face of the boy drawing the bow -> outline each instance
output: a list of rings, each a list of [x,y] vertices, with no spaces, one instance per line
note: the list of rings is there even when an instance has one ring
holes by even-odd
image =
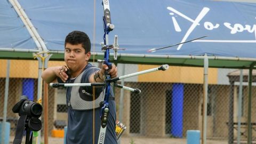
[[[65,47],[65,62],[71,72],[75,73],[83,69],[91,56],[91,52],[85,53],[82,44],[72,45],[67,43]]]

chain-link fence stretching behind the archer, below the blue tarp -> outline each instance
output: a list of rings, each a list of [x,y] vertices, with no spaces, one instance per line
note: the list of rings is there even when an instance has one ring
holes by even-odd
[[[0,67],[0,103],[2,103],[0,117],[2,121],[7,60],[0,61],[3,63]],[[98,63],[94,64],[98,66]],[[49,62],[49,66],[57,65],[63,65],[63,62]],[[119,76],[158,67],[121,63],[117,66]],[[247,139],[248,84],[242,83],[242,95],[239,94],[239,81],[233,81],[231,77],[227,76],[235,70],[209,69],[207,139],[223,142],[227,142],[229,138],[233,138],[234,141],[237,140],[237,137],[242,141]],[[239,74],[236,76],[239,77]],[[36,60],[11,60],[7,122],[11,123],[10,135],[12,137],[19,119],[18,114],[12,112],[12,107],[20,100],[21,95],[27,95],[30,100],[37,101],[37,77],[38,62]],[[234,89],[231,89],[232,81]],[[170,67],[167,71],[127,78],[122,83],[125,86],[141,90],[141,94],[138,95],[115,88],[117,119],[127,126],[123,137],[143,136],[175,139],[186,138],[187,130],[202,131],[203,68]],[[253,85],[251,107],[253,140],[256,139],[255,91],[256,86]],[[63,128],[67,125],[66,89],[49,87],[48,106],[49,136],[63,137]],[[241,117],[238,117],[238,114],[241,114]],[[232,118],[233,125],[229,124],[230,118]],[[240,130],[238,122],[241,122]],[[233,133],[229,132],[230,129],[233,130]],[[43,135],[43,129],[41,132]]]

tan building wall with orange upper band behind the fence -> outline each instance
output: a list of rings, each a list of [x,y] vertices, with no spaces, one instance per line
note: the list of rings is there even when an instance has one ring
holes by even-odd
[[[0,77],[6,76],[6,60],[0,60],[1,69]],[[64,65],[63,62],[49,62],[49,66]],[[126,65],[125,69],[128,72],[137,72],[158,66],[131,65],[132,68]],[[121,68],[119,65],[118,68]],[[220,69],[209,69],[209,93],[212,114],[207,116],[207,137],[228,137],[228,114],[229,114],[229,93],[230,87],[227,85],[227,79],[220,77]],[[223,70],[222,70],[223,71]],[[225,71],[225,70],[224,70]],[[229,72],[229,70],[228,70]],[[228,73],[227,70],[225,73]],[[119,73],[122,74],[122,73]],[[23,78],[37,78],[38,62],[26,60],[12,60],[9,86],[9,100],[7,115],[9,117],[17,117],[13,114],[11,108],[19,101],[22,93]],[[222,74],[223,75],[223,74]],[[225,77],[225,76],[224,76]],[[223,81],[220,81],[220,80]],[[0,85],[4,87],[5,78],[0,78]],[[156,137],[165,137],[165,118],[166,118],[166,91],[172,89],[173,83],[184,84],[184,101],[183,101],[183,137],[186,136],[187,130],[202,130],[202,99],[203,99],[203,68],[191,67],[170,67],[167,71],[157,71],[150,74],[140,75],[129,79],[125,82],[126,86],[141,89],[140,97],[140,115],[138,123],[140,123],[140,134]],[[222,85],[217,85],[221,83]],[[256,122],[256,88],[253,87],[252,96],[252,122]],[[34,98],[37,99],[37,81],[35,81]],[[57,113],[57,105],[60,100],[63,100],[65,90],[49,88],[49,132],[54,129],[53,122],[55,120],[67,119],[66,113]],[[117,103],[117,119],[119,117],[119,97],[120,90],[116,88],[116,103]],[[0,102],[3,103],[4,89],[0,90]],[[244,101],[243,101],[243,117],[242,122],[247,120],[247,86],[244,86]],[[129,135],[131,127],[131,99],[132,94],[129,91],[124,91],[123,116],[122,122],[127,126],[125,134]],[[65,97],[66,99],[66,97]],[[237,108],[237,92],[234,93],[234,108]],[[62,101],[63,103],[63,101]],[[234,109],[234,121],[237,121],[237,110]],[[3,106],[0,107],[0,116],[3,115]],[[43,119],[43,117],[42,117]],[[236,134],[236,131],[234,131]],[[255,132],[253,133],[256,134]]]

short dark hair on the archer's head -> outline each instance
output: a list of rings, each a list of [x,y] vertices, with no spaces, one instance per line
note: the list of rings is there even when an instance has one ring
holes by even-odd
[[[85,53],[91,51],[90,38],[83,31],[74,30],[71,33],[69,33],[65,39],[65,47],[67,43],[72,45],[82,44]]]

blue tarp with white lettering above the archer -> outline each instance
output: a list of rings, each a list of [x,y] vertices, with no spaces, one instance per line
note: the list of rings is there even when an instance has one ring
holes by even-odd
[[[103,6],[96,1],[95,52],[102,42]],[[93,1],[20,0],[49,50],[63,51],[65,36],[72,30],[85,31],[93,43]],[[169,55],[217,55],[256,58],[256,4],[189,0],[110,0],[114,31],[122,53]],[[0,47],[37,49],[11,4],[0,1]],[[155,53],[147,50],[209,35]],[[93,51],[93,50],[92,50]]]

